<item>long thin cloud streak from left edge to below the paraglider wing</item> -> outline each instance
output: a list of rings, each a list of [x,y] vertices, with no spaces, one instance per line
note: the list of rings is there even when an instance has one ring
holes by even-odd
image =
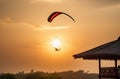
[[[32,27],[34,30],[60,30],[60,29],[67,29],[69,28],[68,26],[51,26],[50,24],[48,25],[39,25],[39,24],[33,24],[33,23],[28,23],[28,22],[21,22],[21,21],[16,21],[13,20],[10,17],[0,17],[0,25],[3,26],[29,26]]]

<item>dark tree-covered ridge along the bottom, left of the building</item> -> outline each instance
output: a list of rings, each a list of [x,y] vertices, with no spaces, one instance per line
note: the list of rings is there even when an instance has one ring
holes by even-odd
[[[1,73],[0,79],[98,79],[98,77],[97,74],[90,74],[83,70],[79,70],[54,73],[40,71],[31,71],[30,73],[19,72],[17,74]]]

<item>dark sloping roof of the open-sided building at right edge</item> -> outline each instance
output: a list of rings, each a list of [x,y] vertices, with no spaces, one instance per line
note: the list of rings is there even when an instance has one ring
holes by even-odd
[[[117,40],[100,45],[88,51],[73,55],[74,58],[83,59],[120,59],[120,37]]]

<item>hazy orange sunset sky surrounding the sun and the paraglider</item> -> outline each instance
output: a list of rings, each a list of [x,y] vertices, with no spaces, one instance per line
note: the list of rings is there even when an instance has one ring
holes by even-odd
[[[64,15],[47,22],[54,11],[66,12],[76,22]],[[0,0],[0,72],[98,72],[98,61],[72,55],[119,36],[120,0]],[[51,45],[55,38],[61,41],[58,52]]]

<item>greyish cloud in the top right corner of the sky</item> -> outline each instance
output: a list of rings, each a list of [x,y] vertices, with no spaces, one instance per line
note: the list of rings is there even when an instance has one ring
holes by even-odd
[[[109,8],[111,6],[120,5],[120,0],[75,0],[74,2],[87,10]]]

